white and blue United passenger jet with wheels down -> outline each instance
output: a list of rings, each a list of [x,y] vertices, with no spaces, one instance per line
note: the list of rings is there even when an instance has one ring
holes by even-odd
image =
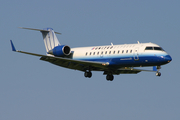
[[[70,48],[62,45],[57,39],[52,28],[28,30],[40,31],[43,36],[46,55],[19,51],[10,40],[12,51],[25,53],[40,57],[40,60],[52,64],[84,72],[86,78],[92,77],[92,71],[102,71],[108,81],[113,81],[114,75],[137,74],[141,71],[159,72],[161,65],[172,61],[172,58],[159,45],[154,43],[103,45],[91,47]],[[136,68],[137,67],[137,68]],[[139,69],[142,67],[153,67],[152,70]]]

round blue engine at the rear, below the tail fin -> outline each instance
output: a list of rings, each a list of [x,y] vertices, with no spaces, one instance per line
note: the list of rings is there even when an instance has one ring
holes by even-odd
[[[54,47],[54,49],[48,52],[48,54],[58,57],[68,56],[70,53],[71,53],[71,48],[67,45],[56,46]]]

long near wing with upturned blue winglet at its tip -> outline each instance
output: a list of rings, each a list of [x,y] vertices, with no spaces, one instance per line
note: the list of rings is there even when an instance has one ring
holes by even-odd
[[[19,51],[15,49],[12,40],[10,42],[11,42],[12,51],[38,56],[38,57],[41,57],[40,60],[47,61],[52,64],[69,68],[69,69],[75,69],[75,70],[80,70],[80,71],[91,69],[94,71],[101,71],[101,70],[106,70],[108,66],[108,63],[105,63],[105,62],[74,60],[71,58],[54,57],[54,56],[41,55],[41,54],[30,53],[30,52],[25,52],[25,51]]]

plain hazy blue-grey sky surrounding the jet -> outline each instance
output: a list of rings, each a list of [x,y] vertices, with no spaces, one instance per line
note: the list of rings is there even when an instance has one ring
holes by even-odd
[[[0,120],[179,120],[179,0],[6,0],[0,4]],[[11,51],[46,54],[38,31],[70,47],[152,42],[172,56],[155,73],[92,78]]]

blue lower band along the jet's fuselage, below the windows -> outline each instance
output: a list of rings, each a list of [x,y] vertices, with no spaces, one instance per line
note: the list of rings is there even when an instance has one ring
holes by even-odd
[[[74,58],[76,60],[85,60],[85,61],[97,61],[97,62],[109,62],[109,65],[116,66],[157,66],[168,63],[166,53],[161,54],[140,54],[134,59],[134,54],[126,55],[109,55],[109,56],[86,56],[83,58]],[[170,58],[169,58],[170,59]]]

